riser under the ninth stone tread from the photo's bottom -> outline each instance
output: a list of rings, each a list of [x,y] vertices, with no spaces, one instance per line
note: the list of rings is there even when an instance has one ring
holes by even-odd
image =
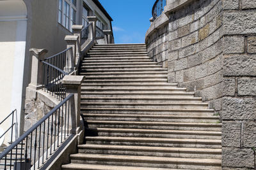
[[[154,106],[154,105],[144,105],[141,106],[140,104],[138,105],[121,105],[121,104],[116,104],[116,105],[110,105],[110,104],[81,104],[81,107],[83,108],[156,108],[156,109],[207,109],[208,106],[179,106],[179,105],[174,105],[174,106]]]

